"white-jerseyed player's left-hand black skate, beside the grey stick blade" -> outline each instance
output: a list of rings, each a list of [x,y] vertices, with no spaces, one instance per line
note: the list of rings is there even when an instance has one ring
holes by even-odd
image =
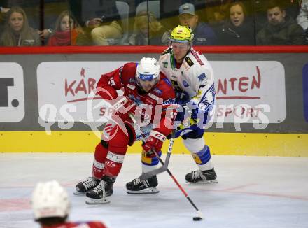
[[[158,186],[158,178],[156,176],[143,181],[136,178],[126,183],[126,192],[128,194],[155,194],[160,192],[156,186]]]

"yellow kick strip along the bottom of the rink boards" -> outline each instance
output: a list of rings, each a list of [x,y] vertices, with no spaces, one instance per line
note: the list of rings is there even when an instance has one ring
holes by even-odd
[[[307,134],[261,134],[209,132],[204,139],[213,155],[308,157]],[[92,152],[99,138],[92,131],[8,131],[0,133],[1,152]],[[162,147],[167,152],[169,141]],[[129,153],[141,152],[137,141]],[[172,153],[188,153],[176,138]]]

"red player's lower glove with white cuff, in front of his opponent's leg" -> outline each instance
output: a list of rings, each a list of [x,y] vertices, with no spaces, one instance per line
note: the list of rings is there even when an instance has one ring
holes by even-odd
[[[144,148],[146,152],[146,157],[155,157],[155,152],[160,152],[162,149],[162,143],[166,140],[166,136],[161,134],[158,131],[151,131],[150,136],[148,137],[148,140],[144,145],[142,145],[142,148]]]

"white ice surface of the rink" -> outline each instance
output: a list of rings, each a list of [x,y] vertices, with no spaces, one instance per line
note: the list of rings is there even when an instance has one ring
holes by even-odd
[[[69,191],[69,220],[102,220],[111,228],[308,227],[308,158],[213,156],[217,184],[188,185],[195,170],[190,155],[172,155],[169,169],[204,215],[197,213],[167,173],[158,176],[159,194],[130,195],[125,183],[139,176],[140,155],[127,155],[111,204],[89,206],[73,196],[91,175],[90,153],[1,153],[0,227],[38,227],[29,200],[38,181],[59,180]]]

